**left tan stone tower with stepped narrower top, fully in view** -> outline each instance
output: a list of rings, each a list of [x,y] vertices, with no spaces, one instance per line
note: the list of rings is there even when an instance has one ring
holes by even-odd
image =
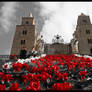
[[[16,25],[16,31],[11,48],[11,55],[19,55],[20,50],[26,47],[27,53],[37,41],[37,32],[34,17],[30,13],[28,17],[22,17],[21,25]]]

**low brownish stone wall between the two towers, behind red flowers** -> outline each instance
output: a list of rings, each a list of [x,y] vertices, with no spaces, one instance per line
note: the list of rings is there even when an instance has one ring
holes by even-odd
[[[71,45],[54,43],[54,44],[45,44],[44,52],[46,54],[71,54]]]

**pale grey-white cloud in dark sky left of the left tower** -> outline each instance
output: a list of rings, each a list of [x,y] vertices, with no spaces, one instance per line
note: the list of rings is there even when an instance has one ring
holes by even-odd
[[[16,20],[16,11],[19,6],[17,2],[4,2],[0,9],[0,25],[4,32],[9,32]]]

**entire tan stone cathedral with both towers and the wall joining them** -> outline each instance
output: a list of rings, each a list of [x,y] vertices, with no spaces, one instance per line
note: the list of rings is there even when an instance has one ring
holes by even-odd
[[[62,41],[60,43],[59,41],[59,37],[56,37],[56,42],[54,41],[52,44],[44,44],[43,40],[37,40],[34,17],[30,14],[28,17],[22,17],[21,25],[16,26],[11,54],[19,55],[23,47],[29,52],[35,46],[40,54],[78,53],[92,55],[92,24],[89,16],[83,13],[78,16],[76,30],[69,44],[64,44]]]

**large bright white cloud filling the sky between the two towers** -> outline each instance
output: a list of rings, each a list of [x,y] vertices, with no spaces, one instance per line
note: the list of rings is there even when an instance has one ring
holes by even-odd
[[[47,43],[56,34],[61,35],[65,43],[69,43],[81,13],[89,15],[92,20],[92,2],[40,2],[40,6],[40,15],[44,18],[40,35]]]

